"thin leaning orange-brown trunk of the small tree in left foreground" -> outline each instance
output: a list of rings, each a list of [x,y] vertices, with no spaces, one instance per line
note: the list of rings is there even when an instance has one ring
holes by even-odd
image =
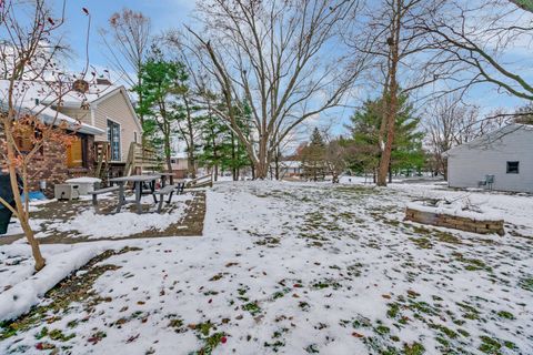
[[[9,178],[11,182],[11,189],[13,191],[13,200],[17,206],[17,217],[20,221],[20,225],[22,226],[22,231],[24,231],[26,239],[31,246],[31,254],[33,255],[33,260],[36,261],[34,268],[36,271],[41,271],[46,265],[46,260],[42,257],[41,250],[39,248],[39,242],[36,239],[33,230],[30,226],[30,215],[29,212],[24,210],[22,199],[20,196],[19,191],[19,183],[17,181],[17,171],[14,169],[13,162],[16,161],[14,150],[13,150],[13,136],[11,135],[11,128],[8,124],[4,124],[6,130],[6,141],[7,141],[7,150],[8,150],[8,170],[9,170]],[[23,176],[23,179],[28,179]],[[24,182],[24,185],[27,183]],[[28,199],[28,191],[26,192],[26,199]]]

